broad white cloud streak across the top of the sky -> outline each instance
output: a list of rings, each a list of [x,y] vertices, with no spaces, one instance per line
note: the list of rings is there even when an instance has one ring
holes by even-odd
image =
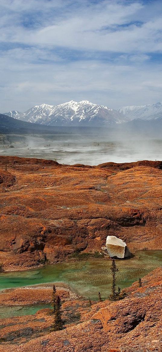
[[[19,4],[21,1],[14,1],[15,4],[17,2]],[[34,11],[36,2],[30,1],[27,8],[30,8],[31,3]],[[40,1],[41,6],[43,3],[44,1]],[[49,8],[51,10],[50,6],[53,4],[57,5],[58,2],[47,1],[47,5],[44,3],[45,10],[47,11]],[[141,26],[138,26],[138,23],[136,25],[139,11],[144,11],[144,6],[140,2],[128,2],[127,4],[125,1],[117,0],[101,1],[98,5],[91,4],[89,7],[87,4],[87,1],[83,2],[82,8],[78,8],[78,12],[70,13],[67,10],[63,13],[61,11],[58,17],[54,15],[54,18],[50,17],[50,19],[45,15],[46,24],[44,16],[41,15],[42,26],[38,29],[22,28],[13,24],[6,28],[1,38],[4,40],[6,36],[6,40],[16,43],[53,47],[65,46],[82,50],[162,51],[161,16],[156,14],[155,18],[148,21],[147,18],[144,18],[144,23]],[[39,6],[38,9],[40,10],[40,8]],[[121,27],[131,21],[134,24]]]

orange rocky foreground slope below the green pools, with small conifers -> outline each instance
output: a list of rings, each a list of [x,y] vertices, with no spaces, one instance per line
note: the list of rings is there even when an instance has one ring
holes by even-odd
[[[58,332],[50,332],[50,309],[2,319],[0,352],[162,351],[162,268],[142,278],[142,287],[136,282],[126,291],[117,302],[65,301],[65,327]]]

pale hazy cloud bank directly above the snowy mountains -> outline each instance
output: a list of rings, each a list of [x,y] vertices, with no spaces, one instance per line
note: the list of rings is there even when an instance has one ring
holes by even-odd
[[[159,100],[162,71],[140,64],[137,67],[100,62],[78,61],[56,65],[15,65],[1,95],[5,112],[25,111],[41,103],[58,104],[69,100],[90,100],[113,108],[144,105]],[[148,71],[150,71],[148,77]],[[4,78],[5,80],[5,75]],[[156,89],[155,89],[156,88]]]

